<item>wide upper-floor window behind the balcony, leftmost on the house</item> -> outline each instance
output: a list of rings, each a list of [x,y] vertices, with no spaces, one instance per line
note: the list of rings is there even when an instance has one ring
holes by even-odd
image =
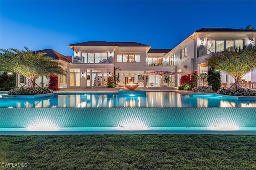
[[[81,53],[81,63],[107,63],[108,60],[108,53]]]

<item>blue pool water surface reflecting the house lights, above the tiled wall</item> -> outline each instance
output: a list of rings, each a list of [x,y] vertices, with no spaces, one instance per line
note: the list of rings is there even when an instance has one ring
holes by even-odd
[[[57,93],[40,98],[0,98],[0,107],[256,107],[256,100],[236,100],[209,95],[175,92],[147,92],[143,95],[118,93]]]

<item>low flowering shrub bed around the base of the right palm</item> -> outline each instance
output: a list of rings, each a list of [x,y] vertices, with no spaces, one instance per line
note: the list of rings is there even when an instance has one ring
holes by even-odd
[[[217,94],[224,94],[229,96],[256,96],[255,90],[246,90],[246,89],[220,89]]]

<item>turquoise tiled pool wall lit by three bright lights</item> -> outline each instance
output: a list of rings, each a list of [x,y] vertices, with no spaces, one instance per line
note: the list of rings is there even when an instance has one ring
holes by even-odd
[[[1,108],[0,131],[255,131],[256,108]]]

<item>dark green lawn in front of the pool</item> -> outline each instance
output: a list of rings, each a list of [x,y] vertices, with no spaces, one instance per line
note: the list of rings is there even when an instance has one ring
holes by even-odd
[[[256,135],[29,135],[0,142],[0,163],[26,163],[26,170],[256,169]]]

